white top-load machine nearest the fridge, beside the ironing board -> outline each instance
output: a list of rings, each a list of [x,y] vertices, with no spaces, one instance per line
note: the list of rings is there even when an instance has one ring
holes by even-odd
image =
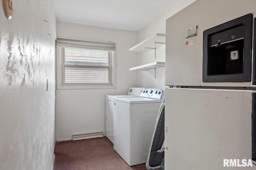
[[[114,150],[129,166],[145,163],[162,90],[145,89],[140,97],[114,99]]]

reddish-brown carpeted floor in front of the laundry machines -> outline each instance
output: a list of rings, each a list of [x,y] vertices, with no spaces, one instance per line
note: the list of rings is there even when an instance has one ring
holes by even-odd
[[[146,170],[126,164],[106,137],[57,142],[54,153],[54,170]]]

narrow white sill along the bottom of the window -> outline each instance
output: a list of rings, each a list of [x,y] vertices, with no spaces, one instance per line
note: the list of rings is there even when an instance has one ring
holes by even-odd
[[[57,90],[64,89],[114,89],[116,88],[114,85],[62,85],[57,86]]]

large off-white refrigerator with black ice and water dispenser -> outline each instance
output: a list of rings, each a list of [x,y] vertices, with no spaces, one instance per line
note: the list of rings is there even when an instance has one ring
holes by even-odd
[[[196,1],[166,20],[166,170],[256,169],[255,9]]]

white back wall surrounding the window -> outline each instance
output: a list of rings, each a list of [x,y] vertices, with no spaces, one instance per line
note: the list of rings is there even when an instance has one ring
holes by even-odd
[[[129,49],[137,43],[136,31],[57,22],[57,37],[116,43],[116,89],[76,89],[56,92],[56,138],[71,140],[72,134],[105,133],[105,95],[127,94],[138,86],[138,72],[129,68],[138,64],[137,53]]]

